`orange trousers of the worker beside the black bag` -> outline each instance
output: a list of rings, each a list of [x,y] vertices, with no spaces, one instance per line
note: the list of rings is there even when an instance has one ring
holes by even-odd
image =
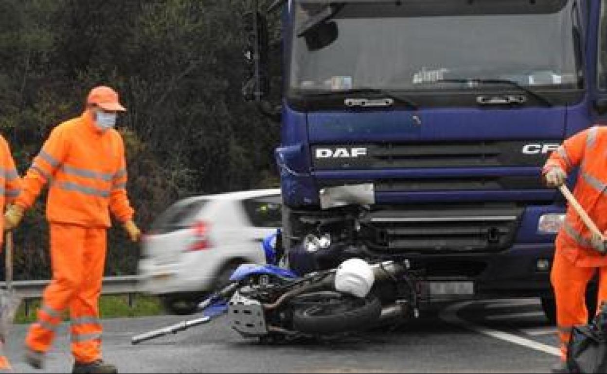
[[[563,246],[572,245],[557,240],[557,250],[552,265],[551,281],[557,301],[558,338],[561,342],[561,358],[567,356],[567,345],[571,339],[574,326],[588,323],[586,309],[586,287],[599,273],[599,303],[607,301],[607,266],[580,267],[576,266],[564,254]]]

